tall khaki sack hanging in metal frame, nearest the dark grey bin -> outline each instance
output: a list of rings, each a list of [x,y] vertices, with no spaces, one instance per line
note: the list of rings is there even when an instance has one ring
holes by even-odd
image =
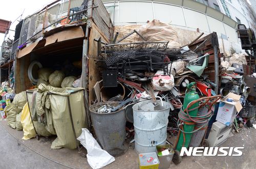
[[[58,136],[52,143],[52,149],[61,147],[75,149],[77,147],[67,96],[70,98],[70,108],[76,136],[81,134],[82,128],[88,128],[83,102],[83,91],[70,94],[70,91],[77,91],[80,89],[83,88],[54,88],[50,90],[51,93],[54,93],[54,95],[51,95],[50,97],[50,103],[53,124]]]

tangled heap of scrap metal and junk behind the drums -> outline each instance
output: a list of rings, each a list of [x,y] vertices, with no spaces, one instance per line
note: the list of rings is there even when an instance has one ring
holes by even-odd
[[[96,102],[125,101],[126,120],[133,123],[132,105],[140,100],[157,99],[170,103],[167,131],[178,133],[178,112],[182,107],[186,86],[197,83],[200,95],[216,95],[211,91],[212,81],[202,75],[209,54],[196,53],[185,46],[167,48],[168,42],[132,42],[103,45],[102,83],[94,87]],[[127,102],[127,99],[132,99]],[[120,102],[121,103],[121,102]],[[154,106],[153,106],[154,107]],[[98,107],[98,113],[113,112],[113,107]]]

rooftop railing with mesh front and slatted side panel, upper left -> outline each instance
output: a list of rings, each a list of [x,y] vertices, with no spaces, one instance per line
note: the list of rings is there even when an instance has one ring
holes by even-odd
[[[19,45],[34,41],[47,31],[65,24],[86,22],[88,2],[93,2],[92,19],[103,34],[111,39],[113,25],[100,0],[57,0],[24,19]],[[97,8],[98,7],[98,8]]]

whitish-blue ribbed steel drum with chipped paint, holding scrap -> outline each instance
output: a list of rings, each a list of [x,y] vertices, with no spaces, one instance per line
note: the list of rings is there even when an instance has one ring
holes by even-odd
[[[142,110],[147,103],[158,106],[152,111]],[[165,145],[170,104],[145,100],[133,106],[135,151],[137,154],[156,152],[157,145]]]

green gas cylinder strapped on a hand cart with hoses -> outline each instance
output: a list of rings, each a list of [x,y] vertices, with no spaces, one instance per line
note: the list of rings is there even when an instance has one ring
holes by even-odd
[[[190,91],[187,92],[185,97],[184,97],[182,110],[185,110],[187,108],[187,105],[191,101],[199,99],[199,95],[196,93],[196,82],[191,82],[191,83],[187,84],[187,89],[190,90]],[[198,106],[199,106],[199,102],[196,102],[191,107],[189,107],[188,110],[196,108]],[[179,113],[181,113],[181,112],[179,112]],[[188,111],[188,114],[189,114],[189,116],[196,117],[197,114],[198,114],[198,108],[196,108],[195,110],[192,110],[192,111]],[[184,129],[183,131],[192,132],[194,130],[195,123],[193,121],[186,121],[184,123],[185,124],[183,125],[183,129]],[[193,123],[193,124],[189,124],[189,123]],[[183,133],[181,131],[179,131],[179,138],[178,138],[178,143],[176,145],[176,150],[181,151],[183,143],[184,143],[183,147],[187,148],[188,145],[189,145],[192,134],[193,133],[185,133],[185,143],[184,143]]]

